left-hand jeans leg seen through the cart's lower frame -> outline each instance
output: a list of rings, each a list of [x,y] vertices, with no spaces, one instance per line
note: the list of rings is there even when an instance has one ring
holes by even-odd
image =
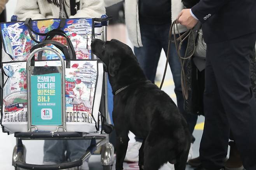
[[[65,161],[64,140],[44,141],[44,164],[62,163]]]

